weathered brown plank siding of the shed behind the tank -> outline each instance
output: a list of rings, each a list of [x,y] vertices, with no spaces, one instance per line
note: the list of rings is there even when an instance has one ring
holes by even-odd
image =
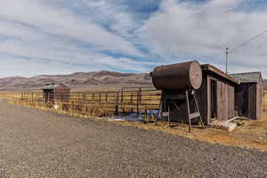
[[[227,80],[203,74],[203,82],[197,91],[198,107],[200,115],[205,122],[211,122],[211,79],[217,82],[217,120],[226,121],[235,115],[235,92],[234,85]],[[179,110],[174,106],[171,107],[171,120],[179,122],[187,122],[187,110],[185,101],[175,102]],[[193,101],[190,99],[191,112],[194,112]]]

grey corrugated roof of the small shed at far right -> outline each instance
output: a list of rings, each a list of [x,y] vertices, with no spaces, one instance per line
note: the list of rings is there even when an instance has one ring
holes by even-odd
[[[262,80],[261,72],[246,72],[231,74],[232,77],[238,78],[241,83],[257,83]]]

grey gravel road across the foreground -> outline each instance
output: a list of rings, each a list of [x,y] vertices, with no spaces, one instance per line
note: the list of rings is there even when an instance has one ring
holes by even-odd
[[[0,101],[1,177],[267,177],[267,153]]]

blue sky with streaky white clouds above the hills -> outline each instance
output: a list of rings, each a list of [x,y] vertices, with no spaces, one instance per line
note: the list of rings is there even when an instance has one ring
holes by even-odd
[[[267,77],[265,0],[1,0],[0,77],[197,60]]]

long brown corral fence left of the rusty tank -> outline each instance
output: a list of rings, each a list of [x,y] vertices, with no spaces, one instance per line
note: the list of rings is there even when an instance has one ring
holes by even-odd
[[[24,92],[9,97],[12,102],[61,110],[88,117],[107,117],[119,114],[147,113],[158,110],[161,93],[151,87],[123,87],[118,91],[42,93]]]

